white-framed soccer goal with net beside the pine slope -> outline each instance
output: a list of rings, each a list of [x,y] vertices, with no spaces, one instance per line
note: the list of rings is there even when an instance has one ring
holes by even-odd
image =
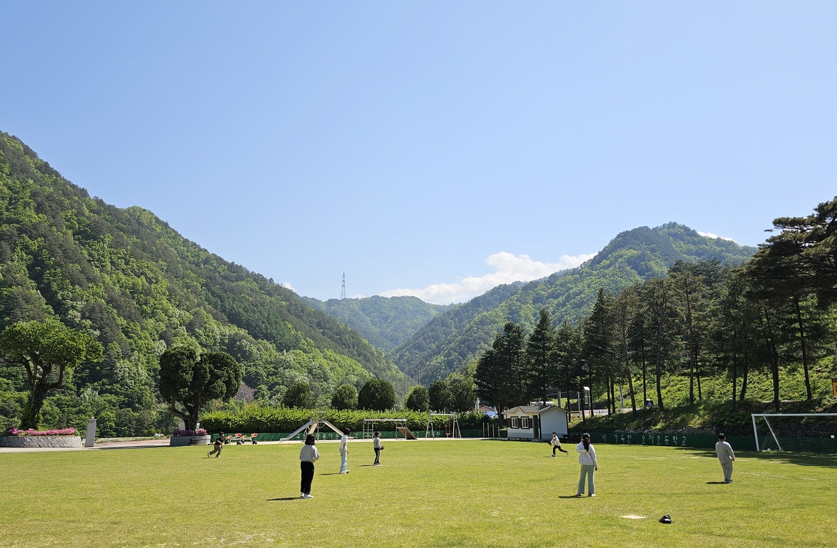
[[[756,451],[837,453],[837,413],[752,415]]]

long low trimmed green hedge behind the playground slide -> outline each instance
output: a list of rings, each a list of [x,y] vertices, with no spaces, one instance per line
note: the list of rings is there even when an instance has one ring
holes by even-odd
[[[311,420],[310,409],[289,407],[262,407],[258,404],[245,406],[241,411],[213,411],[200,417],[201,428],[209,433],[220,432],[294,432]],[[413,431],[427,427],[428,414],[415,411],[338,411],[329,409],[326,420],[337,428],[348,428],[352,432],[363,429],[365,418],[406,418],[407,428]],[[478,412],[461,413],[457,422],[462,430],[480,430],[482,423],[496,423]],[[444,429],[445,417],[434,417],[436,429]],[[378,430],[394,431],[395,423],[376,425]]]

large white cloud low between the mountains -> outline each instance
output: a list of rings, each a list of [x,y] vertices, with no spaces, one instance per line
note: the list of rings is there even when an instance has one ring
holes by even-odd
[[[485,293],[491,288],[500,284],[511,284],[511,282],[527,282],[532,279],[539,279],[553,272],[563,269],[572,269],[595,254],[562,255],[555,263],[542,263],[532,260],[528,255],[514,255],[501,251],[489,255],[485,264],[495,271],[484,276],[468,276],[452,284],[433,284],[424,289],[388,289],[383,291],[383,297],[398,297],[413,295],[428,303],[439,305],[462,302],[477,295]]]

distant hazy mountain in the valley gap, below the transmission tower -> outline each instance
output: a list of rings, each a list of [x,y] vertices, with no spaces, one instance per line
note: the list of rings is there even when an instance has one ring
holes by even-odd
[[[449,305],[431,305],[417,297],[381,297],[362,299],[329,299],[302,297],[306,304],[348,325],[353,330],[388,352],[410,338],[427,322]]]

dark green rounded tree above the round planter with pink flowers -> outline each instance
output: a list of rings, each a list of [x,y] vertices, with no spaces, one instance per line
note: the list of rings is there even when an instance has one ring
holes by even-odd
[[[226,352],[198,356],[194,348],[176,346],[160,356],[160,394],[172,403],[172,415],[182,418],[187,430],[198,428],[204,403],[229,402],[240,386],[241,366]]]

